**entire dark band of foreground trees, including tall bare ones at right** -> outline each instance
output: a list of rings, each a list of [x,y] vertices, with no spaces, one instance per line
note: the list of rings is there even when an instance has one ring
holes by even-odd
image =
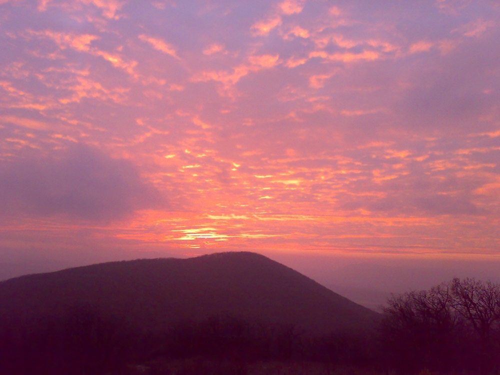
[[[0,374],[160,375],[169,373],[161,363],[189,358],[308,361],[372,372],[497,373],[500,286],[455,278],[391,297],[371,330],[322,337],[293,325],[232,316],[144,332],[91,308],[30,320],[4,317],[0,324]],[[238,368],[234,373],[246,373]]]

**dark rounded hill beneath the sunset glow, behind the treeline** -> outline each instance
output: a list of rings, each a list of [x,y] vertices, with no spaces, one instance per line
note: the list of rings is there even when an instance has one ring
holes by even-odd
[[[0,301],[3,318],[91,306],[144,330],[232,315],[326,334],[367,327],[378,315],[251,252],[138,259],[31,274],[0,282]]]

